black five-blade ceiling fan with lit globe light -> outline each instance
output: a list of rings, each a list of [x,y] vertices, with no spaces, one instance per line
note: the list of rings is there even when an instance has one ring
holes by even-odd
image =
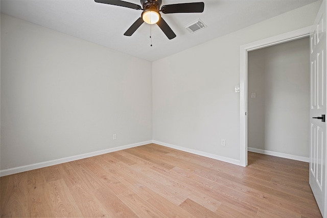
[[[164,14],[173,13],[202,13],[204,10],[203,2],[196,3],[181,3],[164,5],[161,7],[162,0],[141,0],[141,6],[134,3],[124,2],[120,0],[95,0],[97,3],[103,3],[108,5],[121,6],[131,8],[135,10],[143,10],[141,17],[139,17],[132,26],[124,33],[125,36],[131,36],[133,33],[142,25],[143,22],[149,23],[150,25],[156,23],[162,32],[169,39],[176,37],[176,34],[168,26],[167,22],[161,17],[160,11]]]

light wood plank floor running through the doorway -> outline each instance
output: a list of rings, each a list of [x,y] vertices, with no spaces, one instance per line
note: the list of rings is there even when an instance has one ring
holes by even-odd
[[[247,167],[148,144],[1,177],[2,217],[321,217],[309,164]]]

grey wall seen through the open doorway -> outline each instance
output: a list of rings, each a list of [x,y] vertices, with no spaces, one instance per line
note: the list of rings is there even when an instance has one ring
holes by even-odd
[[[249,148],[309,158],[309,47],[306,37],[248,53]]]

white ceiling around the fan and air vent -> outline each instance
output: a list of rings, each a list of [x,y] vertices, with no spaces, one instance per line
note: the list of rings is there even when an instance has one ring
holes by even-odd
[[[141,5],[139,0],[125,1]],[[155,61],[315,1],[203,0],[203,13],[161,13],[177,37],[169,40],[158,26],[153,25],[152,47],[147,23],[143,23],[132,36],[123,35],[141,16],[141,10],[99,4],[94,0],[1,0],[1,12],[112,50]],[[162,0],[162,5],[186,2],[201,0]],[[184,26],[198,18],[207,28],[191,34]]]

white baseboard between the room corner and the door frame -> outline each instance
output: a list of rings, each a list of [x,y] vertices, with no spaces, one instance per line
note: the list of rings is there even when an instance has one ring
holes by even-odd
[[[219,155],[215,155],[215,154],[210,154],[210,153],[206,153],[206,152],[201,152],[201,151],[197,151],[197,150],[193,150],[193,149],[188,149],[188,148],[184,148],[184,147],[180,147],[180,146],[175,146],[173,144],[169,144],[169,143],[165,143],[165,142],[161,142],[161,141],[156,141],[156,140],[152,140],[152,143],[159,144],[160,146],[165,146],[165,147],[168,147],[168,148],[184,151],[184,152],[189,152],[191,154],[197,154],[197,155],[200,155],[200,156],[213,158],[213,159],[224,161],[224,162],[227,162],[227,163],[240,165],[240,160],[236,160],[236,159],[232,159],[232,158],[228,158],[228,157],[223,157],[223,156],[219,156]]]

